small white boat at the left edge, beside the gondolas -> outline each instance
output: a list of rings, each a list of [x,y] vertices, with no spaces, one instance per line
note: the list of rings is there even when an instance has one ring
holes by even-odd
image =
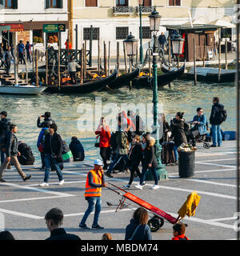
[[[32,85],[15,85],[5,86],[0,85],[0,94],[32,94],[38,95],[46,90],[46,86],[32,86]]]

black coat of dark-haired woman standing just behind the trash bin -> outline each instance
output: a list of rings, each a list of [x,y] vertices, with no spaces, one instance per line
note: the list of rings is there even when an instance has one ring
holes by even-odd
[[[171,132],[174,138],[174,144],[180,146],[182,143],[187,144],[186,134],[184,131],[184,121],[175,119],[171,121]]]

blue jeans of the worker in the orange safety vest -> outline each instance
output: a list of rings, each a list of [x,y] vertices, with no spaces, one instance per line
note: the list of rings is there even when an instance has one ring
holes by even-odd
[[[85,212],[80,224],[84,225],[86,223],[86,219],[88,218],[90,213],[94,210],[94,205],[95,205],[93,226],[97,226],[98,218],[99,218],[99,215],[101,212],[102,198],[101,197],[89,197],[89,198],[87,198],[87,202],[88,202],[88,208],[86,209],[86,212]]]

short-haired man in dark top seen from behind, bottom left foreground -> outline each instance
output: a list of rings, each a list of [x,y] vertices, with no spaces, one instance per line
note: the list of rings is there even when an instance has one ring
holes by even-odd
[[[75,234],[67,234],[66,230],[61,226],[63,224],[63,213],[58,208],[53,208],[48,211],[45,215],[45,221],[47,229],[50,231],[50,237],[46,240],[50,241],[69,241],[69,240],[81,240]]]

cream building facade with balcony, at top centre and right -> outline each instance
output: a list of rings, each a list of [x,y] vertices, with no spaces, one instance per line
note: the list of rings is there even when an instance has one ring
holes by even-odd
[[[138,0],[70,0],[72,3],[72,41],[75,45],[74,28],[78,24],[78,48],[82,42],[89,42],[90,26],[93,26],[93,56],[98,54],[98,38],[101,48],[103,42],[111,42],[111,55],[115,56],[117,43],[122,41],[130,32],[139,39],[139,8]],[[142,38],[143,48],[147,49],[151,34],[149,28],[150,12],[156,6],[162,15],[162,25],[179,25],[192,20],[202,23],[213,22],[223,18],[233,22],[234,1],[231,0],[145,0],[142,7]],[[161,26],[159,34],[166,33]],[[234,34],[234,30],[230,29]],[[166,33],[167,36],[167,33]]]

